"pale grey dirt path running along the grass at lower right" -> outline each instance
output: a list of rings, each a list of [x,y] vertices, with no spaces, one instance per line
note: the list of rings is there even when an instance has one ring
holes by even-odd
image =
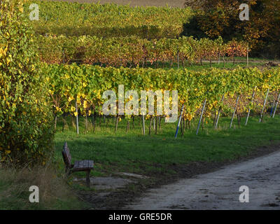
[[[149,190],[125,209],[280,209],[280,151]]]

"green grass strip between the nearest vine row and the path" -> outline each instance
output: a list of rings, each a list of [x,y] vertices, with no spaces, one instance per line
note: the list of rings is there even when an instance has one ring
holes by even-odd
[[[102,122],[95,133],[92,130],[85,133],[84,120],[80,118],[78,136],[71,125],[62,132],[62,123],[59,122],[55,137],[57,160],[63,165],[61,151],[64,141],[67,141],[73,160],[94,160],[96,176],[115,172],[150,175],[171,172],[168,166],[172,164],[235,160],[248,155],[258,146],[269,146],[272,141],[280,143],[279,117],[267,117],[264,123],[258,123],[258,118],[251,118],[248,126],[241,126],[240,129],[237,121],[232,129],[229,129],[230,118],[221,118],[218,130],[214,130],[209,120],[198,136],[195,134],[197,120],[194,120],[191,129],[186,130],[183,137],[179,134],[176,140],[175,123],[162,124],[157,135],[152,129],[153,133],[149,136],[146,130],[144,137],[139,118],[129,132],[126,132],[126,120],[119,123],[118,132],[115,132],[115,120],[111,118],[108,127]]]

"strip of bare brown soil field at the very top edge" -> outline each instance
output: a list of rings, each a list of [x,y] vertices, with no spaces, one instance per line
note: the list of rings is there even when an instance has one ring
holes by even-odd
[[[57,1],[57,0],[50,0]],[[171,7],[180,7],[183,8],[184,0],[61,0],[61,1],[69,1],[69,2],[79,2],[79,3],[117,3],[119,5],[127,5],[130,6],[168,6]]]

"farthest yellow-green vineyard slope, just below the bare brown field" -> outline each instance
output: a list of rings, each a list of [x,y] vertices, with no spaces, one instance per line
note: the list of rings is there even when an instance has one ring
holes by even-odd
[[[190,9],[169,7],[130,7],[106,3],[67,3],[62,1],[27,1],[37,3],[40,19],[30,21],[36,34],[65,36],[139,36],[140,38],[176,38],[183,24],[192,16]]]

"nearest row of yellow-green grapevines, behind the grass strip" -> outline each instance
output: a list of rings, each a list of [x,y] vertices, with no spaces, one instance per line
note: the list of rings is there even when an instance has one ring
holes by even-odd
[[[257,114],[265,112],[264,99],[271,103],[274,111],[275,103],[279,100],[280,73],[279,69],[260,71],[258,69],[235,69],[225,71],[209,69],[206,71],[188,71],[187,69],[116,69],[113,67],[82,65],[47,65],[44,72],[48,74],[47,82],[50,83],[55,119],[59,116],[71,115],[92,117],[92,122],[97,117],[105,116],[102,105],[107,99],[102,98],[106,90],[118,93],[118,85],[125,85],[125,91],[137,90],[178,90],[179,109],[184,105],[183,121],[190,122],[200,116],[202,103],[204,105],[204,119],[214,119],[218,125],[218,115],[233,116],[237,114],[238,120],[248,111]],[[270,93],[270,94],[269,94]],[[253,94],[253,97],[252,97]],[[132,100],[132,96],[125,99],[125,103]],[[238,99],[238,102],[237,102]],[[118,100],[118,99],[117,99]],[[140,99],[138,99],[140,101]],[[171,101],[170,101],[171,104]],[[134,115],[125,115],[130,120],[141,115],[140,111]],[[167,114],[156,118],[164,118]],[[249,114],[248,114],[249,116]],[[114,116],[109,116],[113,118]],[[122,116],[115,116],[116,129]],[[153,116],[146,116],[151,119]],[[202,122],[203,122],[202,120]],[[77,123],[78,125],[78,123]],[[202,124],[203,125],[203,124]],[[78,127],[77,127],[78,130]]]

